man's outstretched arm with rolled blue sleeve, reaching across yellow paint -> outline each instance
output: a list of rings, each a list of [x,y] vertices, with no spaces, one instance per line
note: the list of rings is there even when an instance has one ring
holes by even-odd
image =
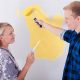
[[[46,22],[44,22],[42,20],[37,20],[36,19],[36,23],[40,26],[40,28],[45,27],[50,32],[52,32],[53,34],[59,36],[64,41],[66,41],[68,43],[71,42],[74,31],[65,30],[65,29],[62,29],[62,28],[55,27],[55,26],[50,25],[50,24],[48,24],[48,23],[46,23]],[[42,25],[42,27],[41,27],[41,25]]]

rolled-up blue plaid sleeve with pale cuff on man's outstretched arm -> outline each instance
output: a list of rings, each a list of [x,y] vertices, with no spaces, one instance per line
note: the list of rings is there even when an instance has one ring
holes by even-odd
[[[63,39],[64,41],[70,43],[71,40],[72,40],[72,36],[73,35],[73,31],[71,30],[64,30],[62,33],[61,33],[61,39]]]

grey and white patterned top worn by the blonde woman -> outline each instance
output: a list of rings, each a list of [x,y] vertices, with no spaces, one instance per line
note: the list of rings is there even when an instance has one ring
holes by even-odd
[[[9,50],[0,48],[0,80],[17,80],[20,69]]]

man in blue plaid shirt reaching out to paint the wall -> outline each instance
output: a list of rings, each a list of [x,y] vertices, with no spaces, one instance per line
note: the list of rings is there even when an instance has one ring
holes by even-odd
[[[80,1],[65,6],[64,14],[69,30],[54,27],[41,20],[37,22],[70,43],[62,80],[80,80]]]

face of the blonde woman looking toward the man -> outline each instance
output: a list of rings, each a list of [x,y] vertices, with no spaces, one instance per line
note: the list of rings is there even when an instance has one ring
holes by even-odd
[[[2,42],[11,44],[15,41],[14,29],[10,26],[4,27],[4,32],[1,36]]]

